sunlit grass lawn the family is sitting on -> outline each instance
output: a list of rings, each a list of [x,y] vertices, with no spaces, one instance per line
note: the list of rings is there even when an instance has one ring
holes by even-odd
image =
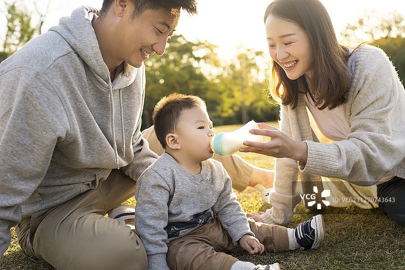
[[[270,124],[277,126],[276,123]],[[238,127],[238,125],[216,127],[216,132],[231,131]],[[274,168],[273,158],[254,153],[239,153],[239,155],[256,166]],[[271,207],[260,200],[259,192],[254,188],[248,187],[236,194],[246,212],[265,211]],[[127,203],[135,204],[135,199],[130,199]],[[253,263],[278,262],[281,269],[405,270],[405,227],[391,221],[379,209],[329,207],[325,211],[318,212],[305,209],[300,203],[287,226],[294,228],[300,222],[318,213],[323,214],[325,219],[326,238],[317,250],[233,255],[240,260]],[[0,258],[0,270],[53,269],[49,264],[25,255],[15,238],[14,228],[12,228],[12,235],[10,248]]]

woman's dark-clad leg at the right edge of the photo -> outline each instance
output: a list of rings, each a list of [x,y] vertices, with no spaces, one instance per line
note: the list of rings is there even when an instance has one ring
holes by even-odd
[[[378,207],[400,225],[405,225],[405,179],[394,177],[377,186]]]

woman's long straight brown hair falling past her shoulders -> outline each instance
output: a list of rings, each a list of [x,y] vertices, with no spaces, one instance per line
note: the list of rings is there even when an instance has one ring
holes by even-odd
[[[318,0],[275,0],[266,9],[264,22],[271,15],[298,25],[308,34],[313,48],[311,86],[302,75],[290,80],[274,60],[269,78],[270,95],[282,105],[297,106],[299,82],[319,109],[333,109],[346,102],[349,85],[349,49],[340,45],[331,18]]]

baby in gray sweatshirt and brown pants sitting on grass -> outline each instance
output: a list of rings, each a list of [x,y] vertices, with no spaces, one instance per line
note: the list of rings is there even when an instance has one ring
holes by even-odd
[[[162,98],[153,123],[165,152],[140,176],[135,191],[135,227],[147,269],[279,269],[278,263],[255,265],[225,252],[315,249],[323,241],[321,215],[295,229],[247,219],[227,172],[210,159],[215,133],[199,97]]]

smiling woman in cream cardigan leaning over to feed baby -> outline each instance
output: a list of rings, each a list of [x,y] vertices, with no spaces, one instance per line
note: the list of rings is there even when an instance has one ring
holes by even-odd
[[[250,216],[286,224],[303,197],[306,206],[325,206],[328,184],[350,196],[336,206],[378,204],[405,225],[405,91],[388,57],[368,45],[339,45],[318,0],[275,0],[264,21],[281,121],[280,131],[265,124],[251,131],[270,141],[240,148],[276,158],[273,207]],[[304,196],[296,194],[299,177]],[[322,184],[326,178],[332,180]],[[365,197],[362,186],[372,185],[376,195]]]

